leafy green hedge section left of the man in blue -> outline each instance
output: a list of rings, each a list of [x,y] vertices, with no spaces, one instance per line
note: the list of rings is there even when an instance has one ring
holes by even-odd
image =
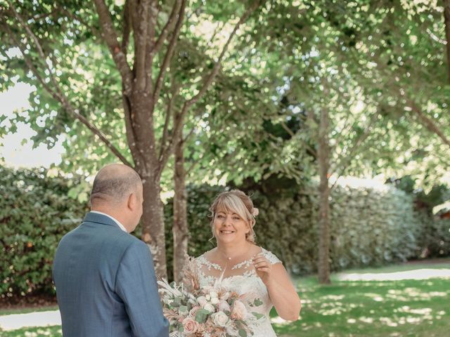
[[[87,209],[68,197],[69,184],[46,177],[43,169],[0,166],[1,298],[54,292],[51,265],[56,247]]]

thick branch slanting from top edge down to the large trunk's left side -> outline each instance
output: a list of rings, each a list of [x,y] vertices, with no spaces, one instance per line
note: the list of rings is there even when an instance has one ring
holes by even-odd
[[[103,0],[94,0],[94,2],[100,20],[101,35],[105,39],[108,48],[110,48],[110,53],[113,56],[117,70],[119,70],[120,76],[122,77],[124,93],[125,95],[130,95],[133,75],[127,62],[127,56],[122,52],[117,41],[117,33],[115,32],[110,12]]]

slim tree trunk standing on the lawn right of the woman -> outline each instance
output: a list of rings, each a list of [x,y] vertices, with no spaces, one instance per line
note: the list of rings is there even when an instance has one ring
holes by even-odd
[[[319,283],[330,284],[330,218],[328,170],[330,166],[330,146],[328,143],[328,110],[324,107],[321,111],[319,126],[319,174],[320,174],[320,206],[319,206]]]

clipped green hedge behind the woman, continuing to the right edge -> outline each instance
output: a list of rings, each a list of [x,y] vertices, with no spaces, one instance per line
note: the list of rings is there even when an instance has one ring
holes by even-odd
[[[231,188],[231,187],[226,187]],[[297,274],[316,271],[318,256],[316,184],[299,186],[295,181],[269,178],[263,183],[245,183],[259,216],[257,244],[274,252]],[[198,256],[214,246],[207,209],[225,187],[188,187],[188,253]],[[166,208],[168,269],[172,270],[172,206]],[[437,230],[439,228],[439,230]],[[414,197],[392,185],[361,187],[338,185],[330,200],[330,266],[383,265],[430,256],[450,255],[450,221],[436,221],[415,211]],[[214,242],[214,241],[213,241]]]

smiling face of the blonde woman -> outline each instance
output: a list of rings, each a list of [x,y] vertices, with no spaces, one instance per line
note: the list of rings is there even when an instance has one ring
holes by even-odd
[[[217,242],[245,242],[245,234],[250,232],[250,225],[240,218],[238,213],[219,209],[214,216],[214,237]]]

